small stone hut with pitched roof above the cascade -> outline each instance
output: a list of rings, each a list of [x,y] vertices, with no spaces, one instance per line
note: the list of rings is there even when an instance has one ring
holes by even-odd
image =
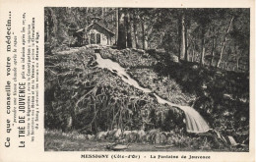
[[[78,46],[88,44],[113,45],[114,43],[114,32],[97,22],[77,30],[74,36],[77,37]]]

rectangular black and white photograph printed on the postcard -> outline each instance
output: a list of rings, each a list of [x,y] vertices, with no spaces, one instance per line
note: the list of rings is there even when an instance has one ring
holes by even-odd
[[[41,36],[44,151],[250,151],[250,8],[44,7]]]

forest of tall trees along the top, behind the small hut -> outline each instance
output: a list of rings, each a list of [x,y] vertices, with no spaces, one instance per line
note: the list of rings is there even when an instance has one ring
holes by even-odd
[[[100,24],[113,32],[117,33],[119,27],[120,49],[126,44],[143,49],[164,48],[185,61],[246,72],[249,14],[248,9],[238,8],[45,8],[45,47],[50,51],[55,46],[76,45],[73,33],[100,17]]]

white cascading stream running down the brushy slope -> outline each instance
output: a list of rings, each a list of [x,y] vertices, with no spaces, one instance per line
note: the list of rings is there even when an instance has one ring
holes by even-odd
[[[125,69],[122,68],[118,63],[113,62],[110,59],[103,59],[99,53],[96,53],[96,62],[97,67],[101,69],[108,69],[109,71],[116,73],[122,81],[125,81],[129,83],[130,85],[133,85],[134,87],[144,91],[145,93],[151,93],[152,90],[149,88],[144,88],[139,85],[139,83],[135,80],[133,80],[126,72]],[[181,109],[186,118],[186,130],[189,133],[206,133],[210,129],[209,125],[206,123],[204,118],[192,107],[189,106],[181,106],[174,103],[171,103],[165,99],[162,99],[158,94],[153,93],[158,102],[160,104],[168,104],[169,106],[177,107]]]

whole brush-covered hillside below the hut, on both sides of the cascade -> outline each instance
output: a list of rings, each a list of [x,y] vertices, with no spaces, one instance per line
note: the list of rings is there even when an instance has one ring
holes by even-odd
[[[108,47],[102,48],[100,55],[119,63],[140,86],[172,103],[194,107],[213,130],[247,145],[231,150],[248,149],[249,80],[245,73],[175,63],[168,53],[154,50]],[[189,150],[230,149],[213,133],[207,140],[205,135],[187,133],[180,109],[160,104],[156,97],[122,81],[116,73],[98,68],[90,46],[45,55],[44,89],[45,144],[49,149],[54,141],[48,137],[61,136],[53,130],[67,132],[71,141],[78,135],[85,142],[93,139],[172,144]],[[124,136],[125,131],[133,134]]]

